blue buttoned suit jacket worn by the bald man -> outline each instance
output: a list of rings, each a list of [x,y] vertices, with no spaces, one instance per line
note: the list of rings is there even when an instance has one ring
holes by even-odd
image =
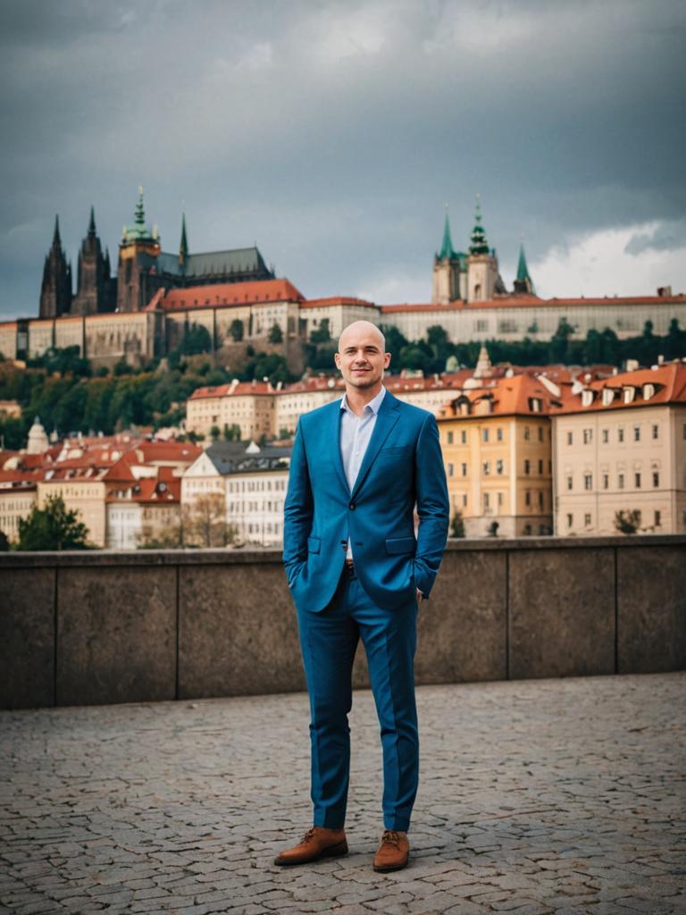
[[[284,566],[298,609],[334,596],[348,535],[356,573],[381,608],[428,597],[448,532],[445,468],[434,415],[386,391],[358,479],[340,456],[340,401],[303,414],[284,503]],[[419,532],[414,536],[414,506]]]

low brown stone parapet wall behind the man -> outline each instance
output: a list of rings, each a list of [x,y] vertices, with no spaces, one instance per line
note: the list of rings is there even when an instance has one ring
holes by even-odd
[[[0,554],[0,707],[304,689],[280,558]],[[420,684],[682,670],[686,536],[451,541],[419,627]]]

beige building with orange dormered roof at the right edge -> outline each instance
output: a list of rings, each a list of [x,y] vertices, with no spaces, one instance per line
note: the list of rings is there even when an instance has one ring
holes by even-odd
[[[686,532],[686,364],[576,382],[552,410],[555,533]]]

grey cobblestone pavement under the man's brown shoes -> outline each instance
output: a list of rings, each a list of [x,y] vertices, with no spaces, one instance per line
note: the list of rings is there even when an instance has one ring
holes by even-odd
[[[381,749],[355,696],[348,857],[310,824],[302,694],[0,713],[0,910],[686,912],[686,674],[423,687],[410,867],[374,874]]]

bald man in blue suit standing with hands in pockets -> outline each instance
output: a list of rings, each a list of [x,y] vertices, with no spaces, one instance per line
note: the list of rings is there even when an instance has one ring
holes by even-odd
[[[284,565],[310,697],[314,825],[278,865],[348,852],[348,712],[360,637],[383,749],[384,832],[374,869],[399,870],[409,858],[419,772],[417,611],[445,549],[448,497],[434,415],[383,387],[391,361],[384,348],[369,321],[346,328],[336,353],[345,396],[301,416],[295,436]]]

